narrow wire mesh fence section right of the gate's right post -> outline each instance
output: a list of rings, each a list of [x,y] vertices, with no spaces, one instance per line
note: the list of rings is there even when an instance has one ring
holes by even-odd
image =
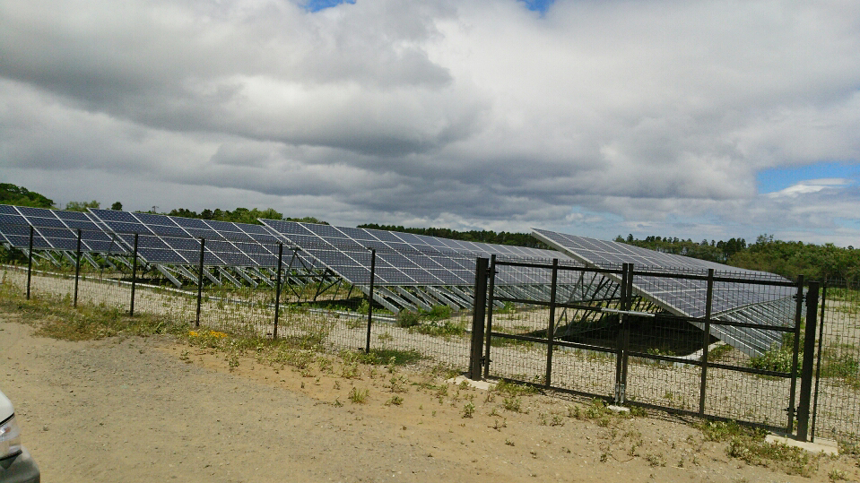
[[[860,283],[829,280],[822,293],[821,314],[813,436],[856,448],[860,445]]]

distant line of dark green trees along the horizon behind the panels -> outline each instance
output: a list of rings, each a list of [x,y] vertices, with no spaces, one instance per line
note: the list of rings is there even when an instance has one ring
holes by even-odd
[[[50,198],[31,192],[22,186],[8,183],[0,183],[0,204],[56,209],[54,201]],[[87,208],[99,208],[99,206],[100,203],[96,201],[69,202],[66,204],[65,209],[86,211]],[[121,210],[122,204],[119,202],[113,203],[111,209]],[[147,212],[154,213],[155,208],[153,207],[152,211]],[[237,208],[233,211],[216,209],[204,210],[199,213],[179,208],[161,214],[202,220],[233,221],[237,223],[260,224],[259,219],[262,218],[327,224],[326,221],[317,220],[314,217],[286,218],[282,213],[274,211],[272,208],[265,210]],[[359,225],[359,228],[384,229],[416,235],[428,235],[430,237],[444,237],[499,245],[550,248],[528,233],[510,233],[507,231],[496,233],[491,230],[457,231],[454,229],[439,228],[406,228],[403,226],[378,225],[376,223]],[[702,240],[701,242],[694,242],[690,238],[684,240],[678,237],[652,236],[637,239],[632,235],[628,235],[626,238],[621,236],[616,237],[615,241],[667,254],[681,254],[701,260],[725,263],[738,268],[778,273],[788,278],[804,274],[810,280],[860,280],[860,249],[855,249],[853,246],[841,248],[830,243],[814,245],[804,244],[804,242],[786,242],[775,240],[772,235],[760,235],[751,244],[748,244],[743,238],[730,238],[727,241]]]

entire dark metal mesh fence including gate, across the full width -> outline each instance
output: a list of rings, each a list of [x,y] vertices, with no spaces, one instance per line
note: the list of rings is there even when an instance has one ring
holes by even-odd
[[[473,256],[291,246],[247,234],[155,239],[137,237],[135,276],[135,234],[122,233],[91,241],[109,248],[102,252],[78,252],[76,240],[64,249],[39,246],[31,272],[27,257],[18,256],[4,265],[2,280],[22,293],[29,280],[32,297],[70,305],[134,306],[135,314],[168,317],[189,330],[199,323],[331,352],[370,349],[383,360],[469,365]],[[181,260],[158,263],[168,256],[159,243]],[[785,427],[788,409],[797,406],[793,350],[803,347],[803,306],[788,280],[501,258],[494,268],[485,348],[493,376],[608,399],[618,397],[621,377],[634,403],[772,427]],[[858,294],[856,283],[826,286],[815,354],[813,434],[852,444],[860,434]]]

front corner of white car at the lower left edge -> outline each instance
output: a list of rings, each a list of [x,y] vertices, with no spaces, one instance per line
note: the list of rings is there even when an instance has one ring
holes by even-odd
[[[15,410],[0,392],[0,483],[39,483],[39,467],[21,444]]]

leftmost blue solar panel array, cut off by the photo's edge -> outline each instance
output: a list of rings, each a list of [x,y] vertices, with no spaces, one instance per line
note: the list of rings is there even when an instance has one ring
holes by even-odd
[[[87,213],[0,205],[0,238],[7,244],[28,248],[30,227],[34,227],[35,249],[75,251],[80,229],[81,251],[126,254],[126,249],[105,233]]]

